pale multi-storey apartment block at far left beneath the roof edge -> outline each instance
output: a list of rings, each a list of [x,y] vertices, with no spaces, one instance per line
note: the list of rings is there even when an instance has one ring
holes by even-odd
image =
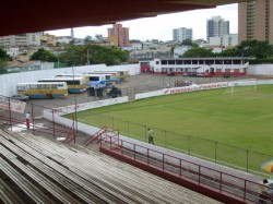
[[[39,47],[43,33],[27,33],[21,35],[9,35],[0,37],[0,47]]]

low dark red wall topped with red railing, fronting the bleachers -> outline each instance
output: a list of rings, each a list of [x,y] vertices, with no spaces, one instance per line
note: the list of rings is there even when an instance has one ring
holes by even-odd
[[[99,151],[225,203],[259,203],[261,184],[124,140],[108,137]],[[272,188],[269,188],[273,190]],[[266,201],[270,197],[266,199]],[[270,202],[270,201],[268,201]]]

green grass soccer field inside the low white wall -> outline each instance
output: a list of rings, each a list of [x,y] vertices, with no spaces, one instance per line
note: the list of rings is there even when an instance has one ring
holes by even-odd
[[[272,104],[272,85],[229,87],[91,109],[78,112],[78,121],[117,128],[142,141],[146,141],[150,127],[158,145],[185,152],[190,148],[192,154],[217,160],[228,157],[237,164],[240,159],[245,163],[246,149],[273,155]]]

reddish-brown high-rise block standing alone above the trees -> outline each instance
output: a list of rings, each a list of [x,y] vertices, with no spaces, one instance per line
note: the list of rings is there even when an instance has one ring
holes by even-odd
[[[129,28],[122,27],[122,24],[114,24],[112,28],[107,28],[108,38],[115,46],[129,47]]]

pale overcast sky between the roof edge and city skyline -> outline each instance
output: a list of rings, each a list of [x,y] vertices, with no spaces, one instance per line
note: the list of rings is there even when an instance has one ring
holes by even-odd
[[[130,39],[159,39],[171,40],[173,29],[179,27],[192,28],[193,39],[206,38],[206,20],[212,16],[222,16],[229,21],[230,34],[238,34],[238,4],[221,5],[216,9],[204,9],[181,13],[158,15],[156,17],[139,19],[119,22],[123,27],[129,27]],[[107,28],[112,25],[87,26],[74,28],[76,38],[85,38],[87,35],[95,37],[100,34],[107,37]],[[70,36],[70,28],[49,31],[46,33],[56,36]]]

